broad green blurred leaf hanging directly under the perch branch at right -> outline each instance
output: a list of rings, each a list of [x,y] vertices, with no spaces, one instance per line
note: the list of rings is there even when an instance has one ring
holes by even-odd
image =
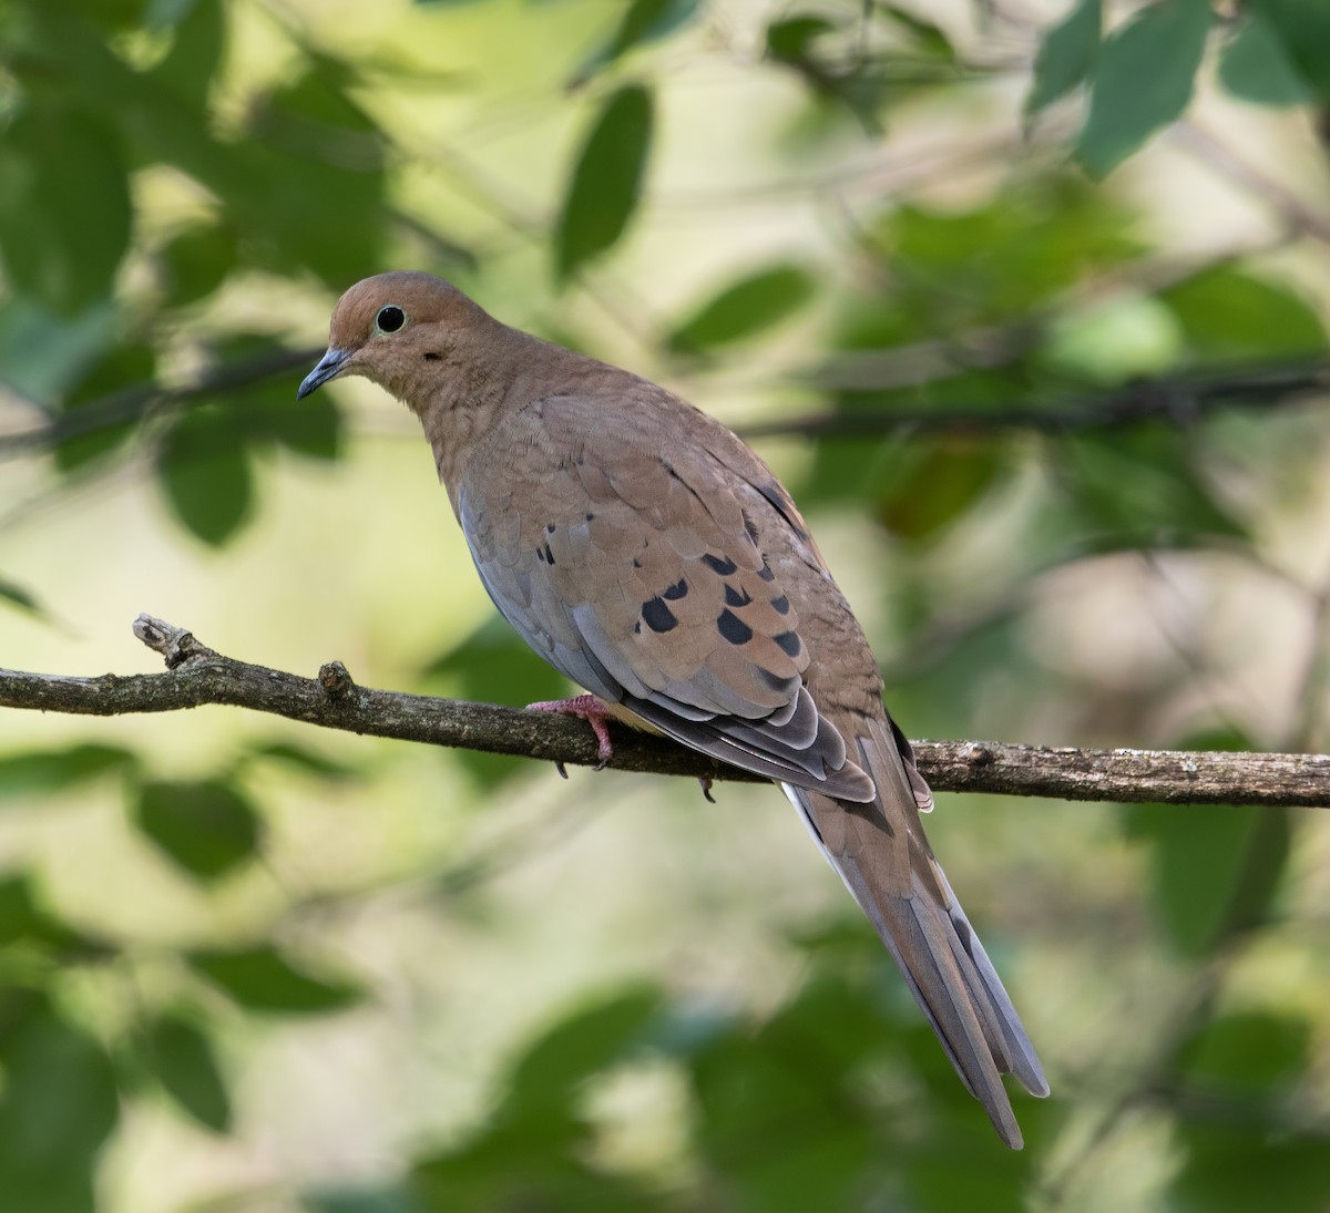
[[[1130,838],[1149,841],[1154,912],[1173,946],[1202,958],[1262,922],[1289,851],[1285,810],[1208,805],[1204,821],[1177,805],[1136,805]]]

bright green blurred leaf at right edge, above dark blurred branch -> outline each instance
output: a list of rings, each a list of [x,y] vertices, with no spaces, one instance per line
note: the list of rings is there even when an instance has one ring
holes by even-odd
[[[1158,298],[1198,358],[1274,359],[1326,347],[1321,317],[1294,290],[1232,266],[1202,270]]]

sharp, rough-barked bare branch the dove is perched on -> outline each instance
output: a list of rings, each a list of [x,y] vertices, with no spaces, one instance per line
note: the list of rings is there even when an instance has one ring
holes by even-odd
[[[184,628],[141,614],[134,634],[166,660],[164,674],[76,678],[0,669],[0,706],[81,716],[177,712],[229,704],[371,737],[596,766],[581,722],[492,704],[358,686],[339,661],[303,678],[223,657]],[[987,791],[1077,801],[1305,805],[1330,807],[1330,755],[1081,750],[1005,742],[915,742],[919,769],[939,791]],[[665,738],[616,730],[618,770],[700,779],[758,777]]]

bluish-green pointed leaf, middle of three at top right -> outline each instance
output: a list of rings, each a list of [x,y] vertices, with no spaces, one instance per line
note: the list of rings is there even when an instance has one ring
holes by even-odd
[[[1210,0],[1160,0],[1103,45],[1076,158],[1107,177],[1156,130],[1181,117],[1210,29]]]

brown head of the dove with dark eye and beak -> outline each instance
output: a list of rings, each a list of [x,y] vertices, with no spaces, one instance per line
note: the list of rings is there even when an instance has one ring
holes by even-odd
[[[297,399],[330,379],[363,375],[415,404],[412,386],[447,370],[459,346],[485,323],[493,322],[479,306],[432,274],[398,270],[366,278],[338,299],[327,352]]]

